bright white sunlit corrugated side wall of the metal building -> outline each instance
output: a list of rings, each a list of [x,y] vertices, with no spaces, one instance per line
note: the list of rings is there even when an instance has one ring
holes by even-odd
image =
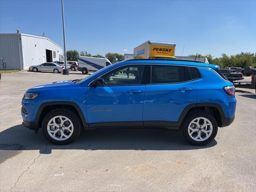
[[[62,54],[62,48],[47,38],[26,34],[22,34],[21,38],[24,69],[28,69],[31,65],[42,64],[43,57],[45,57],[46,62],[46,49],[52,50],[52,61],[59,60],[59,54]],[[56,58],[53,58],[53,51],[56,52]]]

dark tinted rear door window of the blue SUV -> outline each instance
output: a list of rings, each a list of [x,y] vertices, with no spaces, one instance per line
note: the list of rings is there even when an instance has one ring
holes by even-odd
[[[188,67],[152,65],[151,84],[178,83],[191,80]]]

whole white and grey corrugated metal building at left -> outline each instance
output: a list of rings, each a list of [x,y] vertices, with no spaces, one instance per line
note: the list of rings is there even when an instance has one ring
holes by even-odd
[[[28,69],[60,60],[62,47],[52,40],[28,34],[0,34],[0,70]]]

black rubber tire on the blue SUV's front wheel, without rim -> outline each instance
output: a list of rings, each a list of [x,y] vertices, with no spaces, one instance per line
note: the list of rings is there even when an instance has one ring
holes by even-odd
[[[48,133],[48,130],[47,130],[48,122],[55,116],[65,116],[69,120],[71,120],[71,122],[73,124],[73,132],[72,132],[71,136],[69,138],[67,138],[66,140],[55,140]],[[68,144],[68,143],[74,141],[79,136],[80,131],[81,131],[80,119],[74,114],[73,111],[64,109],[64,108],[52,110],[44,117],[44,120],[42,122],[42,133],[43,133],[44,137],[49,142],[56,144],[56,145],[65,145],[65,144]]]

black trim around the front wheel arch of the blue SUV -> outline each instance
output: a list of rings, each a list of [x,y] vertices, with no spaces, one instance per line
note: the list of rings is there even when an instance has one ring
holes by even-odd
[[[51,105],[70,105],[70,106],[73,106],[76,109],[76,111],[77,111],[77,113],[78,113],[78,115],[81,119],[82,126],[83,127],[88,127],[88,124],[87,124],[87,122],[84,118],[84,114],[82,113],[82,110],[78,106],[78,104],[76,104],[75,102],[71,102],[71,101],[52,101],[52,102],[45,102],[39,107],[39,109],[37,111],[37,114],[36,114],[36,120],[35,120],[37,130],[40,128],[39,120],[40,120],[40,116],[42,114],[42,111],[44,110],[45,107],[51,106]]]

